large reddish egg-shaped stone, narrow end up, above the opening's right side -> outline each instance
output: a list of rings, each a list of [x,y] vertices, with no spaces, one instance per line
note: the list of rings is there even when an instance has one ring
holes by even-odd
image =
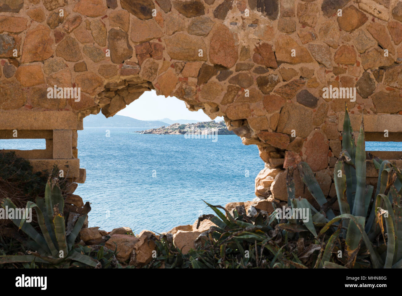
[[[238,46],[234,35],[225,25],[219,25],[209,43],[209,60],[212,64],[232,68],[238,60]]]

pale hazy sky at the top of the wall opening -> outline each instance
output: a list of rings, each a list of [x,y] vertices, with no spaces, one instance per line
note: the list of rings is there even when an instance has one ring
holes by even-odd
[[[204,111],[189,111],[184,101],[175,97],[157,96],[155,90],[146,91],[133,103],[117,112],[117,115],[129,116],[139,120],[157,120],[162,118],[191,119],[197,121],[210,121]],[[215,121],[223,120],[217,117]]]

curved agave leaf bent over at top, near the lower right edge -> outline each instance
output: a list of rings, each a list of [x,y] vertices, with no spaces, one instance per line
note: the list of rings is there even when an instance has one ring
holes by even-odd
[[[381,204],[381,199],[384,201],[385,209],[381,211],[382,209],[379,207]],[[387,228],[387,256],[385,260],[385,265],[384,268],[391,268],[392,264],[394,264],[394,257],[395,257],[395,216],[394,216],[394,211],[392,210],[392,206],[390,203],[390,199],[388,196],[384,194],[379,194],[377,195],[376,202],[375,202],[375,210],[376,213],[378,214],[384,214],[387,213],[387,217],[384,215],[385,219],[385,224]],[[382,223],[382,220],[380,221]]]

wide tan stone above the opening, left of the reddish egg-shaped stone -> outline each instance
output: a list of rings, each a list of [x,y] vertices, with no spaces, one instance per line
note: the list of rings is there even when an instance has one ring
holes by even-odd
[[[170,58],[186,61],[206,61],[207,50],[201,37],[190,37],[183,33],[177,33],[165,39],[166,50]],[[199,49],[202,49],[203,56],[199,56]]]

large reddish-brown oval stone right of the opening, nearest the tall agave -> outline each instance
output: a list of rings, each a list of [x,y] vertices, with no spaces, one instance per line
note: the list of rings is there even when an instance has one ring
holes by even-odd
[[[303,158],[313,172],[326,169],[328,166],[329,142],[326,136],[319,130],[308,136],[303,146]]]

